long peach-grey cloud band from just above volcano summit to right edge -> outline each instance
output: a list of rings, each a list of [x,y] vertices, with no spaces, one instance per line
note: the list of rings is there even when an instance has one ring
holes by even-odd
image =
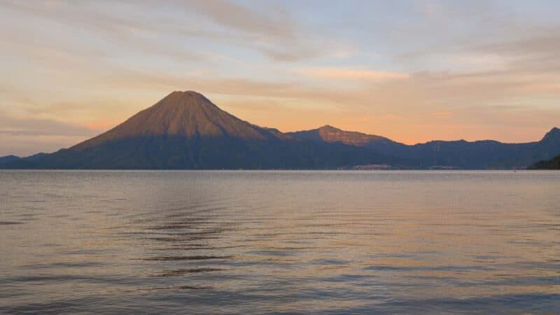
[[[300,70],[297,70],[300,71]],[[352,106],[354,111],[375,111],[384,114],[391,111],[409,113],[451,111],[454,107],[492,105],[496,102],[524,102],[528,90],[532,97],[556,95],[560,90],[550,86],[554,76],[530,74],[511,76],[505,72],[417,72],[379,73],[346,69],[321,69],[305,72],[308,76],[321,76],[337,83],[341,78],[360,79],[355,85],[309,84],[306,80],[253,80],[248,78],[225,78],[221,76],[176,76],[169,73],[146,73],[141,71],[116,71],[110,76],[97,78],[95,88],[103,89],[118,85],[123,90],[153,91],[167,94],[171,90],[197,90],[204,94],[235,95],[237,97],[267,97],[279,102],[302,102],[344,109]],[[552,81],[551,81],[552,80]],[[541,85],[542,84],[542,85]],[[546,89],[546,90],[545,90]],[[521,99],[521,101],[520,101]]]

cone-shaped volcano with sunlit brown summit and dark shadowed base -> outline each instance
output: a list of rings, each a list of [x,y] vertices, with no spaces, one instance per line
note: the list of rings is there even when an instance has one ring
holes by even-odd
[[[259,127],[204,95],[176,91],[124,123],[71,148],[5,168],[332,169],[391,158],[345,144],[325,145]]]

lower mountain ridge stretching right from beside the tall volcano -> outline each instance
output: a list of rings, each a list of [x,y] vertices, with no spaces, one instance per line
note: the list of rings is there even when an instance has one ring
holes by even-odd
[[[560,130],[553,128],[540,141],[504,144],[498,141],[430,141],[408,146],[390,139],[346,132],[324,126],[316,130],[289,133],[298,139],[342,143],[400,158],[412,168],[452,167],[461,169],[524,169],[535,161],[552,158],[560,152]]]

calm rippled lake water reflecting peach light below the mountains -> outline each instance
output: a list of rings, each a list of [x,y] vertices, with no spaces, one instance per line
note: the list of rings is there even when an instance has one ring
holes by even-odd
[[[2,313],[560,314],[560,172],[0,172]]]

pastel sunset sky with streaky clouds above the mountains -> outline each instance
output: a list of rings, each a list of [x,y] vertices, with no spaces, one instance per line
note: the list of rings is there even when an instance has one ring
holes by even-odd
[[[406,144],[560,127],[558,1],[0,0],[0,156],[53,152],[174,90],[283,132]]]

